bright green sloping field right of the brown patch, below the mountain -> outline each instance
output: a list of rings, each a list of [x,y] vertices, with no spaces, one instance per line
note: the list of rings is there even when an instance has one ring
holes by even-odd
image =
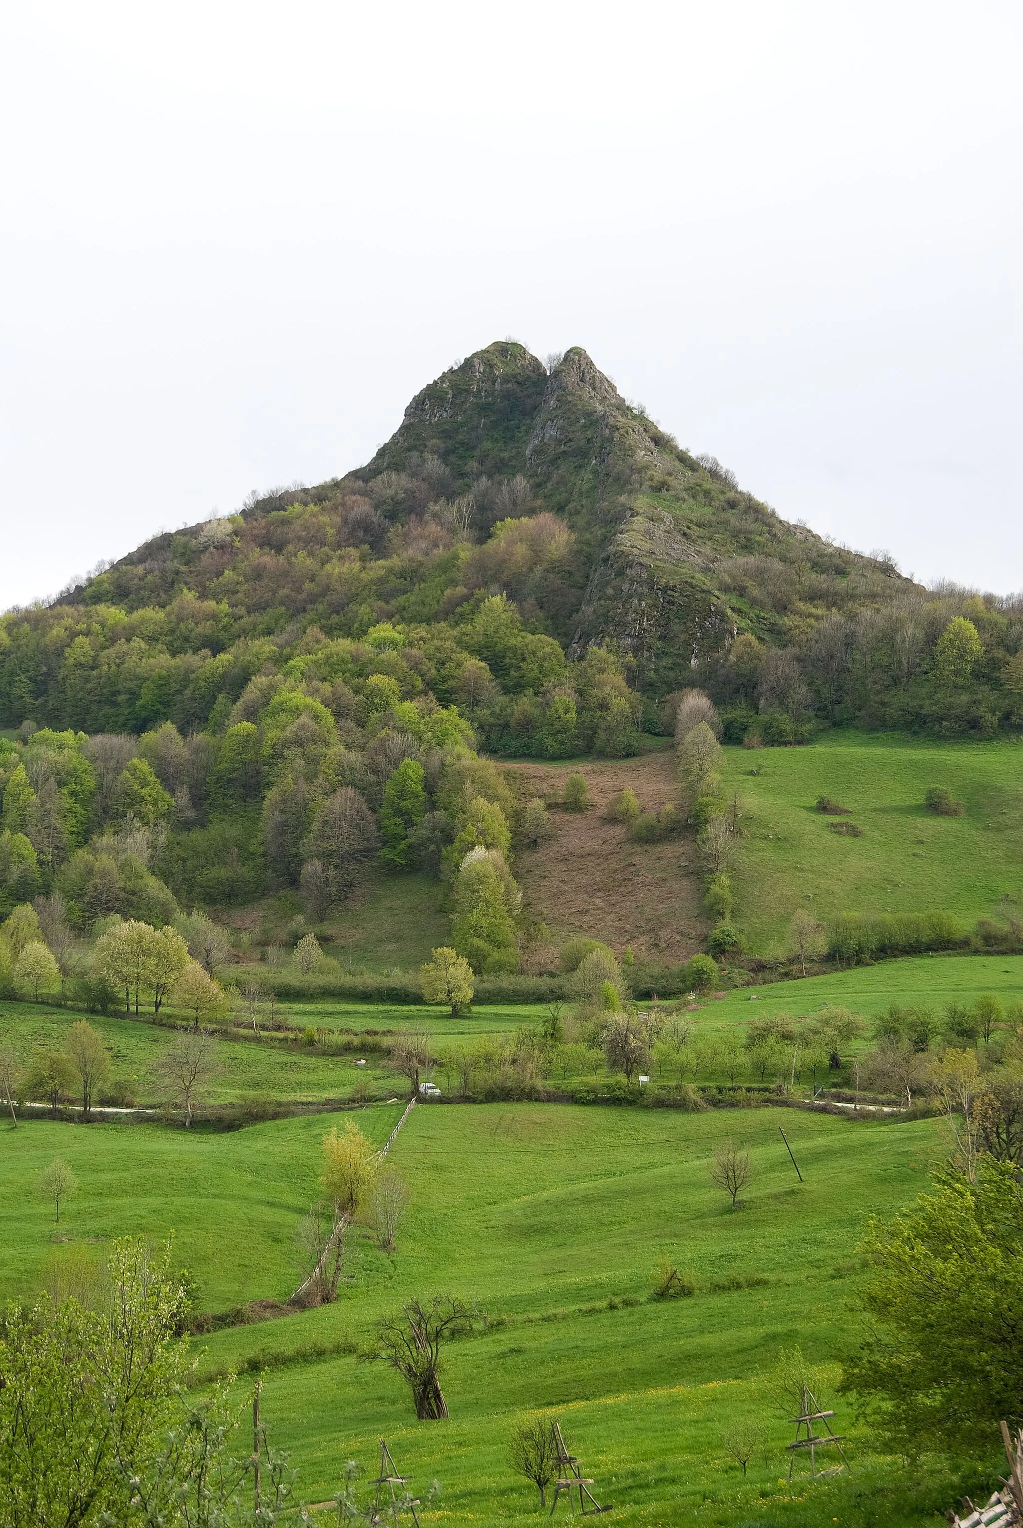
[[[725,790],[745,813],[737,921],[754,955],[784,947],[797,908],[840,912],[943,909],[965,924],[1023,897],[1023,747],[927,743],[841,730],[801,749],[725,749]],[[751,770],[757,770],[752,775]],[[966,807],[937,817],[940,785]],[[820,795],[852,808],[862,837],[829,830]]]

